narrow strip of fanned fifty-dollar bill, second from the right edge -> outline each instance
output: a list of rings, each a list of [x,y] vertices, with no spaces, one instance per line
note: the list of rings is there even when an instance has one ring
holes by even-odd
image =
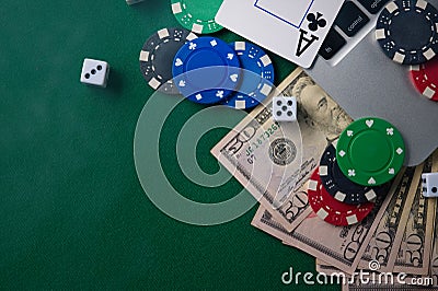
[[[392,187],[391,198],[388,206],[382,209],[382,217],[378,221],[374,232],[370,233],[369,244],[359,261],[359,269],[368,269],[370,261],[379,261],[380,270],[390,270],[392,266],[388,266],[390,255],[395,246],[395,235],[399,228],[404,229],[406,218],[403,219],[402,213],[405,206],[410,206],[413,200],[410,189],[412,185],[417,185],[420,179],[422,168],[407,167],[401,175],[400,183],[394,183]],[[396,252],[394,251],[394,252]]]

